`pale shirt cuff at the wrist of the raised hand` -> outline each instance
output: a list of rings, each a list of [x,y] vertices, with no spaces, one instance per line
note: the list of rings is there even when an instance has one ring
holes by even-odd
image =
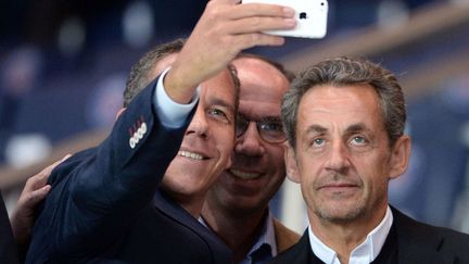
[[[168,71],[169,68],[166,68],[160,75],[160,78],[156,83],[156,91],[154,92],[153,98],[153,109],[163,126],[167,128],[179,128],[185,124],[186,118],[199,101],[200,86],[197,87],[195,93],[188,104],[175,102],[166,93],[166,90],[163,86],[163,80]]]

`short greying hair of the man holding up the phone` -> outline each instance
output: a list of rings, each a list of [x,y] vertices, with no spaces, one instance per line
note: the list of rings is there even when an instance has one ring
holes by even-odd
[[[185,39],[179,38],[167,43],[155,46],[140,58],[131,67],[127,79],[124,90],[124,108],[127,108],[130,101],[153,80],[152,77],[154,76],[149,76],[149,74],[156,63],[167,55],[179,52],[185,42]]]

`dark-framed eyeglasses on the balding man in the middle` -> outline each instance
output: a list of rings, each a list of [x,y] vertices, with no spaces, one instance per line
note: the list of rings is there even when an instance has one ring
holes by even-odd
[[[246,130],[251,122],[254,122],[261,138],[269,143],[281,143],[287,140],[283,131],[283,125],[280,118],[266,117],[259,121],[250,121],[243,115],[237,116],[236,136],[241,137]]]

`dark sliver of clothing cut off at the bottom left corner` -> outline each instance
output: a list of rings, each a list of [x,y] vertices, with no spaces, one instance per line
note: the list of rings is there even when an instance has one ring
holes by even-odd
[[[16,244],[10,226],[9,216],[0,193],[0,263],[17,263]]]

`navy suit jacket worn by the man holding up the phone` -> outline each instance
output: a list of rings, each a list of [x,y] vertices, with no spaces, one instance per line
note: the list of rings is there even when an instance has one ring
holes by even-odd
[[[163,127],[153,86],[103,143],[53,171],[27,263],[229,262],[228,248],[157,190],[190,118],[180,129]]]

